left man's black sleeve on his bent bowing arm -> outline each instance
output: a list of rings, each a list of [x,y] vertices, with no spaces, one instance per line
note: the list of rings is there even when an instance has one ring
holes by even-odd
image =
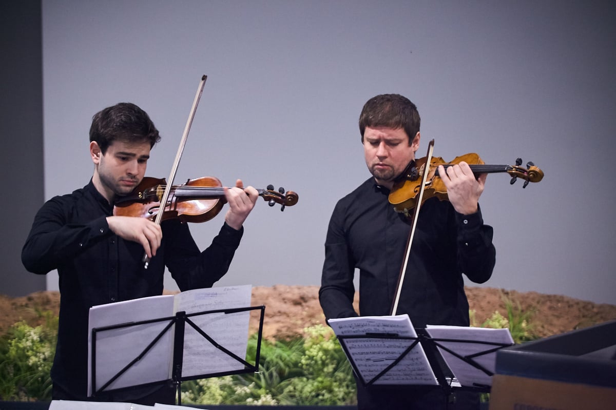
[[[87,223],[68,223],[62,201],[52,198],[34,217],[22,248],[22,263],[28,271],[45,275],[110,233],[105,216]]]

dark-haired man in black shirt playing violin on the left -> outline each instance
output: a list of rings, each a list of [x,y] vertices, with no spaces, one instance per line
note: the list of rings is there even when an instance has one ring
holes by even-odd
[[[159,224],[144,217],[114,216],[117,198],[144,178],[150,150],[160,141],[145,111],[132,103],[105,108],[92,118],[94,174],[83,188],[47,201],[34,217],[22,250],[27,270],[57,269],[60,284],[58,342],[51,371],[54,400],[87,398],[89,308],[160,295],[167,267],[182,291],[211,287],[228,270],[243,222],[258,198],[241,180],[225,189],[229,210],[211,246],[201,252],[187,223]],[[144,254],[150,259],[144,267]],[[175,404],[171,386],[134,388],[97,396],[100,401]]]

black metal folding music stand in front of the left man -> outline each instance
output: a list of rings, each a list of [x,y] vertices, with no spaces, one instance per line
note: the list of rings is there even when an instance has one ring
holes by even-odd
[[[209,336],[206,331],[201,329],[191,318],[194,316],[201,315],[209,315],[214,313],[224,313],[224,314],[233,314],[240,312],[248,312],[251,310],[261,310],[259,316],[259,330],[257,333],[257,348],[254,364],[248,363],[244,359],[237,356],[235,353],[231,352],[229,349],[224,347],[223,345],[216,342],[216,340]],[[92,395],[91,397],[96,397],[100,393],[110,393],[110,392],[121,392],[122,390],[126,390],[128,388],[133,387],[147,387],[147,386],[156,386],[163,385],[171,382],[176,385],[177,388],[177,404],[182,405],[182,396],[181,396],[181,384],[187,380],[196,380],[196,379],[206,379],[208,377],[219,377],[219,376],[229,376],[232,374],[242,374],[248,372],[257,372],[259,371],[259,356],[261,354],[261,340],[262,340],[262,331],[263,331],[263,320],[264,320],[265,306],[255,306],[255,307],[243,307],[243,308],[228,308],[228,309],[219,309],[219,310],[208,310],[205,312],[197,312],[197,313],[186,313],[186,312],[177,312],[175,316],[169,316],[165,318],[158,318],[153,320],[144,320],[137,321],[132,323],[124,323],[124,324],[116,324],[112,326],[102,326],[100,328],[92,328],[92,346],[91,346],[91,354],[92,354],[92,366],[91,366],[91,377],[92,377]],[[104,384],[102,384],[99,388],[97,388],[96,382],[96,342],[97,342],[97,334],[105,331],[111,331],[114,329],[123,329],[123,328],[131,328],[132,326],[149,324],[149,323],[166,323],[163,330],[160,331],[147,347],[139,353],[134,359],[132,359],[124,368],[122,368],[119,372],[117,372],[113,377],[107,380]],[[184,336],[185,336],[185,328],[186,324],[188,324],[191,328],[195,329],[204,339],[208,340],[208,342],[213,345],[217,350],[224,353],[226,356],[229,356],[233,359],[234,363],[243,364],[243,369],[230,369],[227,371],[217,371],[217,372],[204,372],[203,374],[190,374],[190,376],[184,376],[182,374],[182,367],[184,364]],[[175,327],[173,326],[175,325]],[[171,329],[173,331],[173,350],[172,350],[172,371],[171,371],[171,379],[165,380],[152,380],[151,382],[144,382],[136,385],[131,385],[128,387],[121,388],[108,388],[113,382],[115,382],[118,378],[120,378],[123,374],[125,374],[129,369],[132,368],[137,362],[142,360],[144,356],[152,350],[153,347],[167,334]],[[205,371],[205,369],[204,369]]]

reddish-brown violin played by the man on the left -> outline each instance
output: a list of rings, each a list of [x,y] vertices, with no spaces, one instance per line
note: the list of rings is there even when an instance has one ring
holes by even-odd
[[[131,194],[116,199],[113,215],[156,219],[161,212],[166,188],[164,179],[145,177]],[[275,191],[272,185],[266,190],[257,189],[257,193],[268,201],[269,206],[280,204],[280,211],[298,203],[299,199],[293,191],[285,192],[283,188]],[[160,220],[177,218],[182,222],[206,222],[215,217],[226,202],[224,188],[216,177],[189,179],[184,185],[172,185],[169,188]]]

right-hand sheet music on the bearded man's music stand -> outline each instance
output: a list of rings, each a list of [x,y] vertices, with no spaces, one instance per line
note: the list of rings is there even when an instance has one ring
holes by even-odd
[[[513,338],[509,329],[488,329],[488,328],[469,328],[467,326],[431,326],[426,327],[426,332],[432,339],[456,339],[460,342],[436,342],[442,344],[458,355],[466,357],[477,353],[487,352],[496,348],[496,345],[464,342],[463,340],[477,340],[480,342],[492,342],[503,345],[513,345]],[[463,386],[491,386],[492,376],[489,376],[484,371],[474,368],[439,347],[439,352],[445,359],[445,363],[451,369],[456,379]],[[496,352],[480,354],[471,358],[481,368],[492,373],[496,372]]]

